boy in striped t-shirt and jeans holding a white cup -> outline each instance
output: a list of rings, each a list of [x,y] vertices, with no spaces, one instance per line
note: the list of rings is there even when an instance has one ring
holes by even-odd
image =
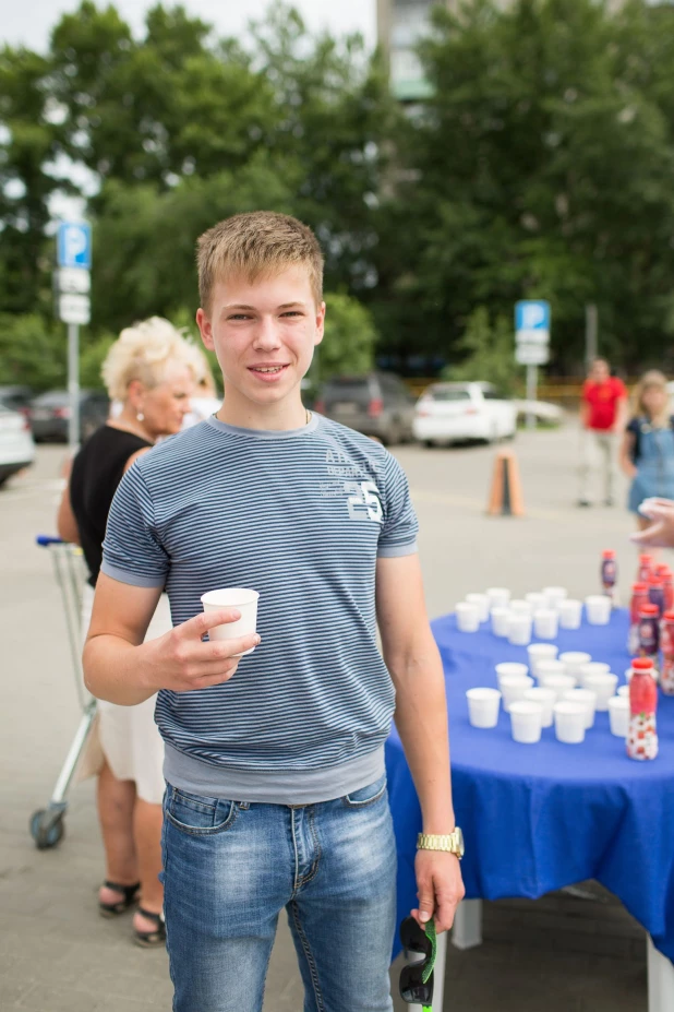
[[[201,237],[197,259],[196,319],[225,403],[119,487],[87,684],[121,704],[159,692],[174,1012],[260,1012],[284,907],[305,1012],[388,1012],[394,714],[429,834],[412,913],[445,930],[464,893],[417,520],[395,459],[302,405],[325,317],[313,233],[237,215]],[[165,586],[174,629],[143,643]],[[258,635],[204,642],[238,618],[202,614],[201,595],[227,586],[260,592]]]

